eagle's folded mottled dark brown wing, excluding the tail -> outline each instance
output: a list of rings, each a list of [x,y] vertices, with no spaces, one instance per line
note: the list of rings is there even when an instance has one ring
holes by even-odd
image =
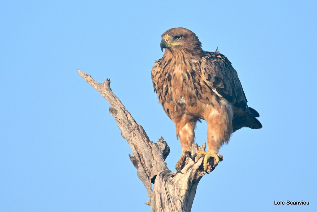
[[[247,98],[241,82],[231,62],[223,54],[205,52],[202,58],[202,75],[209,82],[209,86],[229,103],[244,111],[248,111]]]

